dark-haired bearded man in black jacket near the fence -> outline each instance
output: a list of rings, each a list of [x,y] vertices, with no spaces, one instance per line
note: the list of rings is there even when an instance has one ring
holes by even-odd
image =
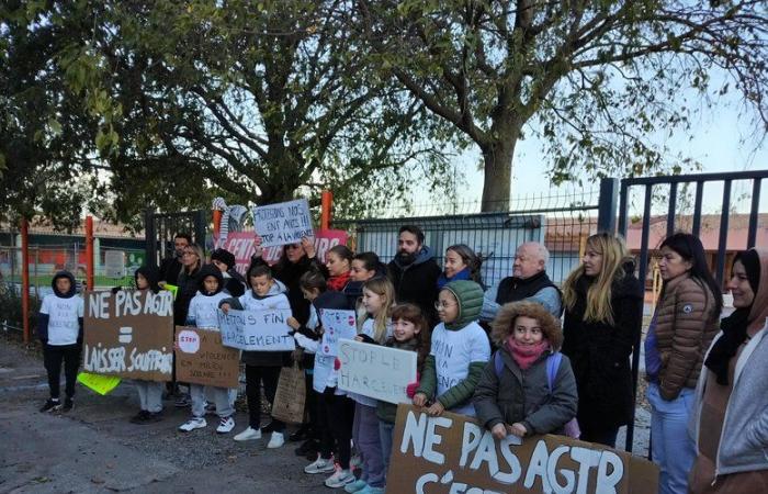
[[[442,271],[423,239],[423,232],[418,226],[400,226],[397,255],[387,265],[387,274],[395,285],[397,303],[418,305],[433,326],[437,322],[438,278]]]

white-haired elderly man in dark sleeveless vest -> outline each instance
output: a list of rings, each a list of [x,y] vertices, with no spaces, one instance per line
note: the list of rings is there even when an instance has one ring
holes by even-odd
[[[499,307],[508,302],[530,300],[542,304],[553,316],[563,314],[560,290],[546,276],[550,252],[538,242],[527,242],[515,252],[512,276],[507,277],[485,292],[482,321],[496,317]]]

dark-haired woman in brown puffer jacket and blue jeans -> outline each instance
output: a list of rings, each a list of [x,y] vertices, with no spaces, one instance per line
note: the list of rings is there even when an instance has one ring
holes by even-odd
[[[718,333],[723,295],[701,240],[677,233],[660,245],[662,293],[645,338],[651,454],[659,493],[685,493],[696,447],[688,436],[704,352]]]

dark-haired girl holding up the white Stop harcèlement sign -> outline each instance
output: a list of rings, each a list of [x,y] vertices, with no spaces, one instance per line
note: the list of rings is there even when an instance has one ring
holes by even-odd
[[[429,355],[429,324],[427,323],[427,317],[421,313],[418,305],[400,304],[395,305],[395,308],[392,311],[392,338],[387,339],[385,345],[399,350],[416,351],[418,353],[417,369],[420,374]],[[417,382],[408,384],[408,396],[414,396],[414,391],[416,391],[417,386]],[[379,402],[376,404],[379,436],[382,441],[382,458],[384,458],[385,472],[389,468],[392,435],[395,430],[396,415],[397,405],[394,403]]]

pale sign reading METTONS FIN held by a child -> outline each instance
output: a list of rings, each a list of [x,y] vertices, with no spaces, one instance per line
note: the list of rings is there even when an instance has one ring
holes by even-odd
[[[296,340],[289,335],[290,308],[263,311],[219,311],[218,327],[225,347],[249,351],[293,351]]]

